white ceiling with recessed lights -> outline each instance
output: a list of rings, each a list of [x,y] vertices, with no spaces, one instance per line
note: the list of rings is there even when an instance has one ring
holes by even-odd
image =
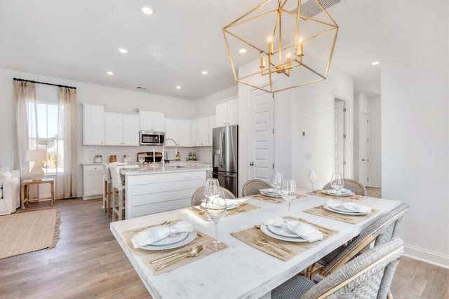
[[[0,65],[200,99],[235,84],[221,29],[260,2],[0,0]],[[145,4],[154,15],[140,11]],[[368,95],[380,94],[380,66],[370,65],[379,55],[379,11],[379,1],[369,0],[343,0],[329,9],[340,25],[333,66],[354,76],[354,88]]]

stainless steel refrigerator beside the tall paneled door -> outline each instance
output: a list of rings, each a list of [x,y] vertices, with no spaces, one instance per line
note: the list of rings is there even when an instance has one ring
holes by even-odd
[[[239,193],[239,126],[229,125],[213,129],[213,172],[220,186],[236,197]]]

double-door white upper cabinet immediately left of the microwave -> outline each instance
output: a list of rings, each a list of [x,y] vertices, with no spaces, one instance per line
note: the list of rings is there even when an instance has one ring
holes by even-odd
[[[105,125],[105,145],[139,145],[140,122],[138,114],[106,112]]]

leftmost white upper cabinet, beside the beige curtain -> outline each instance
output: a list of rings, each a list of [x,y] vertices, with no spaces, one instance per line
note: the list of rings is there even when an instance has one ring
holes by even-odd
[[[83,145],[105,145],[105,105],[83,104]]]

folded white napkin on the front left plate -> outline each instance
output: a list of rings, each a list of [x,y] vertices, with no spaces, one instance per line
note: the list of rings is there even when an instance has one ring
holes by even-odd
[[[178,232],[192,232],[192,230],[194,230],[192,224],[185,221],[180,221],[173,225],[156,226],[154,228],[144,230],[143,232],[139,232],[131,238],[131,242],[133,243],[134,248],[140,248],[142,246],[158,242],[171,234],[177,234]]]

